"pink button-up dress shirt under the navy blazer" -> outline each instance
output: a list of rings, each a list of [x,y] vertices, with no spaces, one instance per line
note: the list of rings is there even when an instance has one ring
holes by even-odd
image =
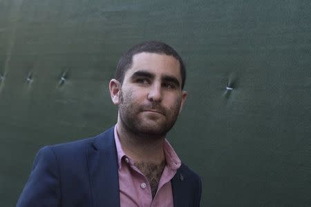
[[[119,166],[120,206],[121,207],[158,207],[173,206],[171,179],[181,166],[181,161],[173,150],[169,141],[165,139],[164,155],[167,165],[162,172],[158,190],[152,199],[151,187],[148,179],[136,168],[131,157],[125,155],[117,135],[115,125],[115,146],[117,148],[117,162]]]

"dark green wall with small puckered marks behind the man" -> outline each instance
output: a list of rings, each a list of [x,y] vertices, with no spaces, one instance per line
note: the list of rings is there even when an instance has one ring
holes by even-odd
[[[309,0],[0,0],[0,206],[39,148],[115,123],[117,59],[151,39],[187,63],[168,138],[202,206],[311,206],[310,23]]]

